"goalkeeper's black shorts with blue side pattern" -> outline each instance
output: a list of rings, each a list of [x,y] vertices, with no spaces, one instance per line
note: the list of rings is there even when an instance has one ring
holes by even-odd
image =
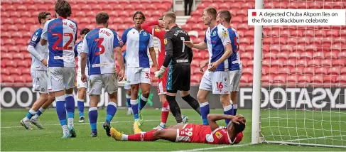
[[[179,91],[190,90],[190,65],[170,66],[167,77],[167,92],[176,93]]]

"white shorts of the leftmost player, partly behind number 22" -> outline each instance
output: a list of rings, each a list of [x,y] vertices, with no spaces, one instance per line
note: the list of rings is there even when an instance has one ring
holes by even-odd
[[[48,74],[45,70],[31,70],[33,78],[33,92],[48,93]]]

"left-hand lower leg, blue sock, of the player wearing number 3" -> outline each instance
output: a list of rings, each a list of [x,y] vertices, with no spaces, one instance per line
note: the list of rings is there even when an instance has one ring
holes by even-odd
[[[99,103],[99,95],[98,94],[90,94],[90,108],[89,108],[89,121],[90,128],[92,130],[90,136],[97,136],[97,104]]]

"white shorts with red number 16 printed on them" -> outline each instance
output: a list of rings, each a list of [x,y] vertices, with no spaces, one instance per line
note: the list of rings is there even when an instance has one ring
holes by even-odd
[[[205,71],[200,81],[200,89],[212,94],[229,94],[229,71]]]

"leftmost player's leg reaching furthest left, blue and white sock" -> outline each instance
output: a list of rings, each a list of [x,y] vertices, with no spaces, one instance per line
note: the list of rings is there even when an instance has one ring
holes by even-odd
[[[26,114],[26,116],[23,119],[21,119],[21,125],[24,126],[24,128],[26,128],[28,130],[31,129],[31,124],[30,124],[31,118],[36,114],[38,109],[40,109],[40,107],[47,100],[48,100],[48,94],[40,93],[40,97],[38,97],[36,102],[33,104],[33,107],[31,107],[31,109],[29,110],[28,114]],[[43,128],[39,127],[39,129],[43,129]]]

